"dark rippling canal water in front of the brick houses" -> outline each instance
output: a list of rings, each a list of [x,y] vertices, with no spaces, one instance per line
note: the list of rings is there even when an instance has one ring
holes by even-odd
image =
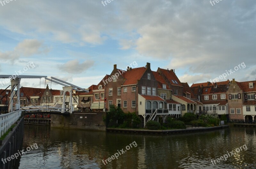
[[[23,149],[19,169],[256,168],[256,128],[143,135],[25,125]]]

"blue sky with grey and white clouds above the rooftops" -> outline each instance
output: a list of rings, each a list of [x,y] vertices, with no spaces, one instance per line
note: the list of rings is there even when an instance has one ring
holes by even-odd
[[[0,74],[52,76],[88,88],[115,64],[126,70],[149,62],[152,71],[175,69],[189,85],[220,75],[255,80],[256,1],[211,2],[2,0]],[[44,78],[21,80],[24,87],[46,84],[62,89]],[[9,85],[0,79],[0,88]]]

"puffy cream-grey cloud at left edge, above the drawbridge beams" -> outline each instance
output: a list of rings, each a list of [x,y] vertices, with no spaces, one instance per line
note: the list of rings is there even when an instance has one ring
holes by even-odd
[[[3,60],[16,60],[20,57],[30,57],[35,54],[48,53],[49,49],[36,39],[25,39],[12,51],[0,52],[0,58]]]

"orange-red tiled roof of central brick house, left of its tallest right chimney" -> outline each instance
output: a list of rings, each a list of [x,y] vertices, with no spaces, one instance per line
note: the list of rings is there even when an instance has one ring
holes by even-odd
[[[138,83],[137,81],[141,79],[145,71],[146,71],[145,67],[138,67],[138,68],[133,68],[130,71],[124,72],[123,77],[125,81],[123,83],[123,86],[137,84]]]

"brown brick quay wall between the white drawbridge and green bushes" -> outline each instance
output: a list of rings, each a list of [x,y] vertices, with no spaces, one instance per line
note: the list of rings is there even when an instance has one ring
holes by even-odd
[[[86,111],[74,112],[69,115],[52,114],[51,127],[106,131],[103,116],[106,116],[106,112]]]

